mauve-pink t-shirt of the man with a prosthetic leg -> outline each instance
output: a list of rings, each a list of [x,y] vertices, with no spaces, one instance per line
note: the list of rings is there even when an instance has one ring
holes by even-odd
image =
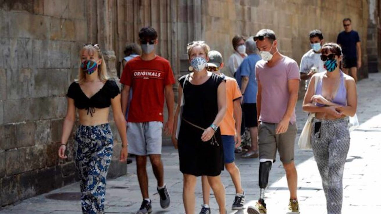
[[[255,66],[255,72],[262,89],[259,121],[279,123],[286,113],[290,97],[288,80],[300,80],[298,64],[287,56],[280,59],[273,67],[267,66],[267,61],[260,60]],[[293,124],[295,121],[295,109],[293,109],[290,122]]]

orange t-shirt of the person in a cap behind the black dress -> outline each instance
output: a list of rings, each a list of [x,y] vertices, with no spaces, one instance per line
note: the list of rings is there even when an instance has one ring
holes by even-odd
[[[221,135],[235,135],[234,105],[233,101],[242,97],[241,90],[234,78],[225,76],[226,80],[226,114],[219,125]]]

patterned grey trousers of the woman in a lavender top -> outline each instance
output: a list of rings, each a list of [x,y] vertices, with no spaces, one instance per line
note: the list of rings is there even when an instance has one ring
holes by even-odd
[[[319,123],[320,129],[319,129]],[[349,150],[348,118],[312,121],[311,146],[322,177],[328,214],[341,214],[343,172]]]

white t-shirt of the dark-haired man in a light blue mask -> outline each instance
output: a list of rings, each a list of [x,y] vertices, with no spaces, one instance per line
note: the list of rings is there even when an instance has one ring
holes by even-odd
[[[311,70],[312,67],[317,68],[317,72],[323,72],[324,69],[324,61],[320,59],[320,56],[322,53],[315,53],[313,49],[307,51],[302,57],[302,60],[300,61],[300,72],[306,73]],[[308,87],[309,80],[306,80],[306,90]]]

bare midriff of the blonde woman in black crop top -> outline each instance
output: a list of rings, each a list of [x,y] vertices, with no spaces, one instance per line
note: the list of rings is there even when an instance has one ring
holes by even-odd
[[[107,108],[95,108],[93,116],[87,114],[86,109],[78,109],[79,123],[83,126],[96,126],[109,122],[110,107]]]

